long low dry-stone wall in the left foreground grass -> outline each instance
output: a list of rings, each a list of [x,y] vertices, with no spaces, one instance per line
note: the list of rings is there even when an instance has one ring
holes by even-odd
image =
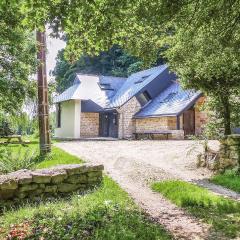
[[[102,181],[103,165],[61,165],[0,175],[0,200],[52,196],[85,191]]]

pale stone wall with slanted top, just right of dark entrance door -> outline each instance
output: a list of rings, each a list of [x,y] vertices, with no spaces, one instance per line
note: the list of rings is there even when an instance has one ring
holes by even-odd
[[[118,109],[119,112],[119,127],[118,137],[132,138],[133,133],[136,131],[135,119],[133,115],[137,113],[141,108],[140,103],[135,97],[129,100],[126,104]]]

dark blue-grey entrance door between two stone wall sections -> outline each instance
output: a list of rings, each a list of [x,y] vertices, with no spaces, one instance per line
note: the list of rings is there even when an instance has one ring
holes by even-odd
[[[99,136],[118,137],[118,113],[105,112],[100,113]]]

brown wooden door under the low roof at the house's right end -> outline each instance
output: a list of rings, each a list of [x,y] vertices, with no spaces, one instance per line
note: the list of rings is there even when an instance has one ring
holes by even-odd
[[[193,108],[183,113],[183,130],[185,136],[195,134],[195,111]]]

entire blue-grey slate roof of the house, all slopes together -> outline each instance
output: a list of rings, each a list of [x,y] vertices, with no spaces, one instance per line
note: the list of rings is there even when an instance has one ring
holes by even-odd
[[[55,97],[54,102],[81,99],[83,112],[100,112],[122,106],[155,82],[161,87],[155,89],[156,97],[134,117],[178,116],[195,103],[201,92],[182,89],[177,82],[173,82],[172,76],[166,73],[167,68],[167,65],[157,66],[134,73],[128,78],[78,74],[74,85]],[[159,80],[158,76],[162,78]],[[103,90],[99,84],[109,84],[112,90]]]

